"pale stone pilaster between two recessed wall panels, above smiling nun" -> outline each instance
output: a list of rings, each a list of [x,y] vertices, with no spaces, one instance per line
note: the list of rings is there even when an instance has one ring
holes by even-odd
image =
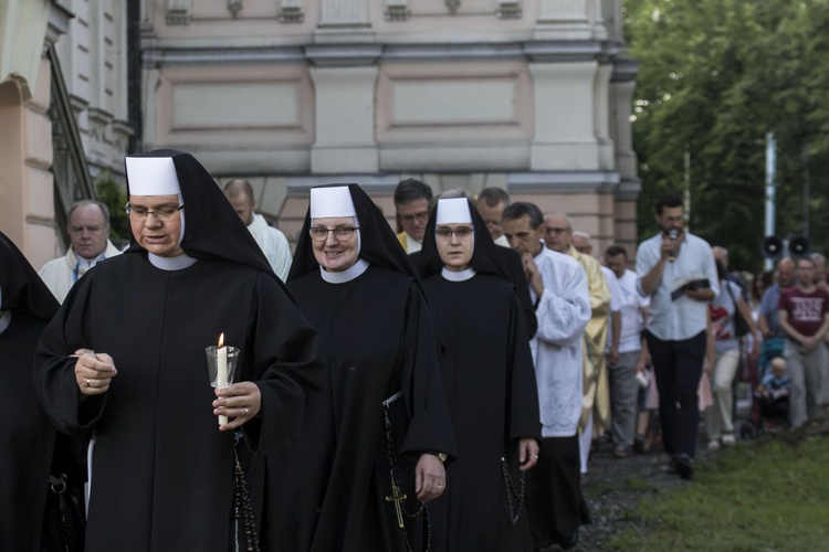
[[[316,142],[312,173],[378,172],[375,88],[379,70],[312,67],[316,89]]]

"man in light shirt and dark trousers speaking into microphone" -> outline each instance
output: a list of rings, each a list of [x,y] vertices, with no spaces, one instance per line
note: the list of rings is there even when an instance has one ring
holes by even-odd
[[[720,293],[720,283],[711,245],[688,233],[684,220],[679,195],[668,193],[657,200],[662,231],[639,245],[637,288],[642,297],[651,298],[644,336],[659,389],[665,453],[680,477],[691,479],[707,309]]]

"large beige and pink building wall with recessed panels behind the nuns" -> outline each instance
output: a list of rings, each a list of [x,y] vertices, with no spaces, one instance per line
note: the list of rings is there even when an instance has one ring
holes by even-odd
[[[144,147],[243,177],[293,237],[318,183],[499,185],[636,244],[619,0],[148,0]]]

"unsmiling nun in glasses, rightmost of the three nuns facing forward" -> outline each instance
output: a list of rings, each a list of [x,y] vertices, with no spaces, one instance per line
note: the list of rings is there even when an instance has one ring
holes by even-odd
[[[523,474],[541,420],[525,317],[481,215],[439,199],[420,274],[445,346],[443,382],[459,459],[432,511],[436,551],[529,551]]]

